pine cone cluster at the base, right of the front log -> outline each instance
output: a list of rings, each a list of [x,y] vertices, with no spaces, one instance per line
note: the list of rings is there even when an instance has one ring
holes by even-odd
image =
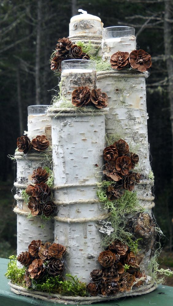
[[[113,241],[106,251],[98,256],[102,269],[90,273],[87,291],[91,296],[117,295],[140,287],[146,281],[146,275],[140,271],[135,254],[120,240]]]

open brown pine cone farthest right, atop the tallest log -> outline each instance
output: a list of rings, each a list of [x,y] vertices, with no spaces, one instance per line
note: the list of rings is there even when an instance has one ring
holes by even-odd
[[[130,66],[133,69],[137,69],[141,72],[146,71],[151,67],[151,55],[144,50],[134,50],[129,54]]]

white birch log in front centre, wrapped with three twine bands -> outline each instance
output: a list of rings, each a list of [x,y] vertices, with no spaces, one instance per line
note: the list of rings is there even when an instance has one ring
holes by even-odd
[[[57,112],[57,117],[56,116]],[[106,218],[97,198],[105,144],[104,112],[52,114],[52,157],[56,242],[67,247],[66,273],[88,282],[97,269],[102,234],[96,221]],[[98,164],[98,167],[96,167]]]

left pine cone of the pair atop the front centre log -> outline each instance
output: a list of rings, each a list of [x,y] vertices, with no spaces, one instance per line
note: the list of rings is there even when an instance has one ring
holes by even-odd
[[[85,87],[78,87],[72,92],[72,104],[76,107],[83,107],[90,103],[91,92],[90,89]]]

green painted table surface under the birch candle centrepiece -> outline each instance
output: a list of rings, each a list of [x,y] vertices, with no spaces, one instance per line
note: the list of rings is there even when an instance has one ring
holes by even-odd
[[[8,259],[0,259],[0,306],[53,306],[54,303],[45,302],[31,297],[23,297],[12,293],[8,280],[4,276],[7,270]],[[64,304],[57,304],[59,306]],[[159,285],[155,291],[142,295],[140,297],[127,297],[121,298],[120,300],[96,303],[93,306],[146,306],[146,305],[157,305],[157,306],[173,306],[173,287]]]

